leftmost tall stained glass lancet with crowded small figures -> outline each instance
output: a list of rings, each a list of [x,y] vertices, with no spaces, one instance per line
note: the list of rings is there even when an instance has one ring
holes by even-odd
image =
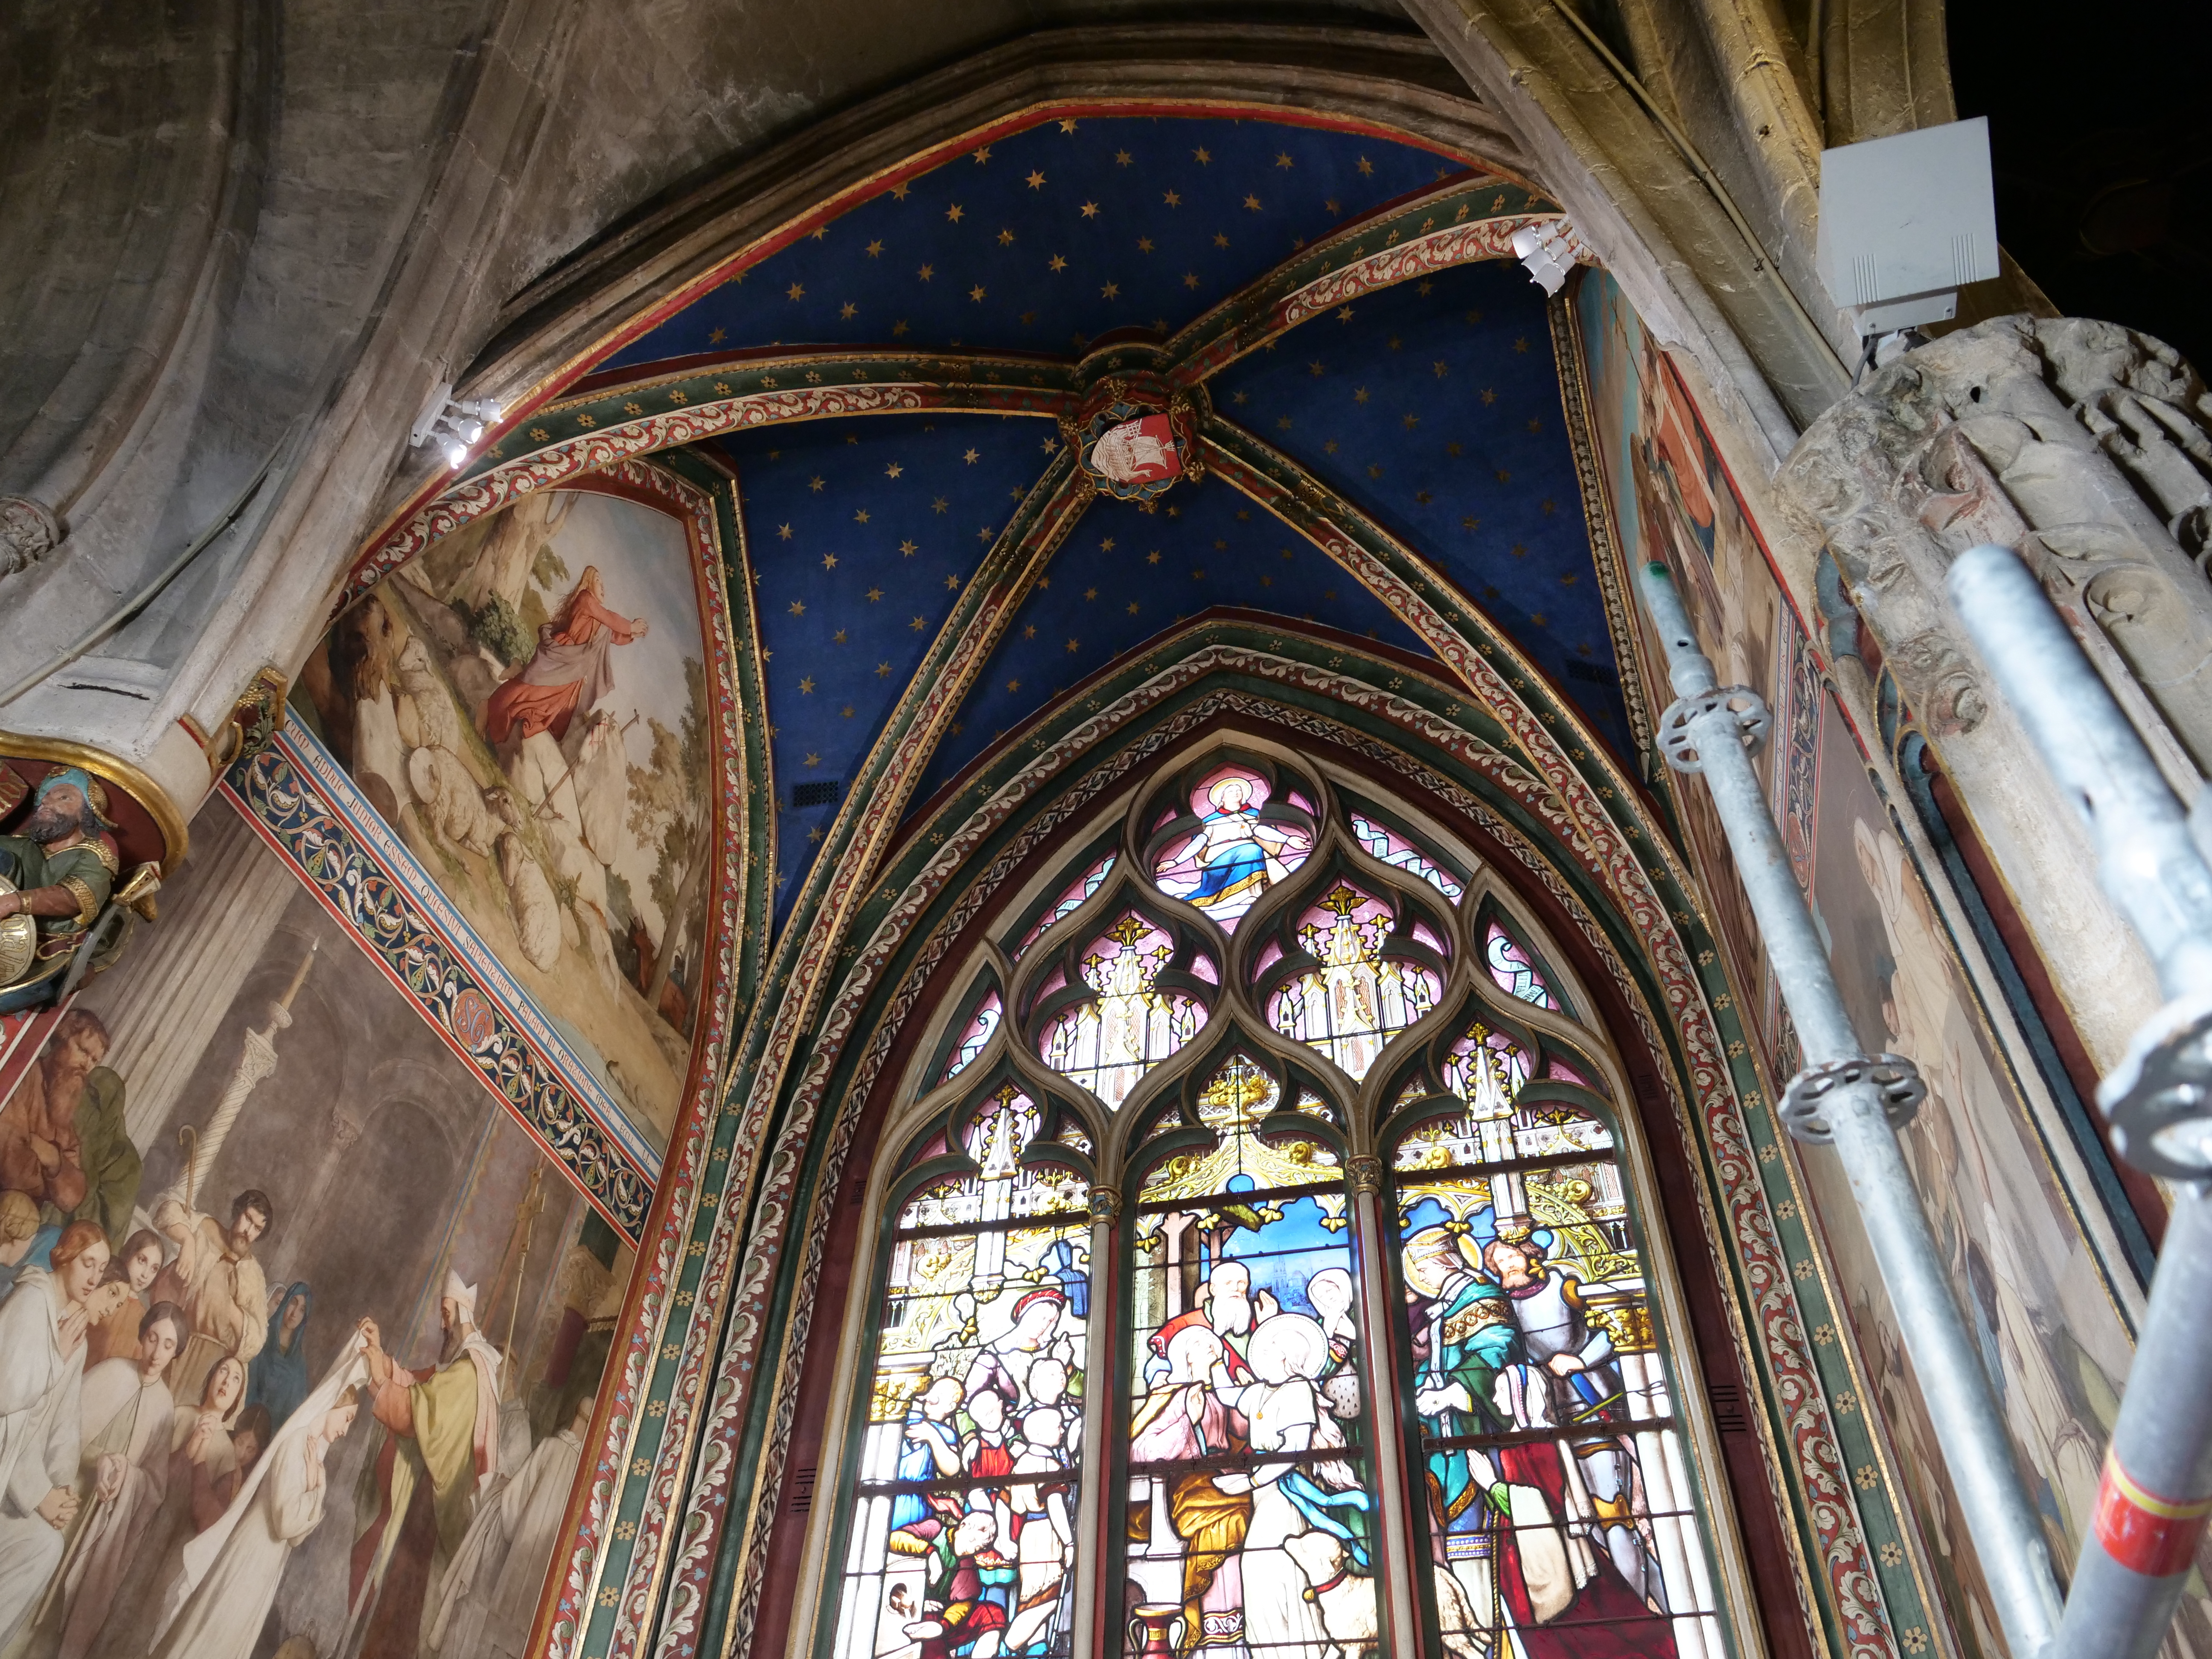
[[[838,1659],[1068,1652],[1088,1183],[1002,1084],[891,1234]],[[938,1137],[914,1164],[945,1159]]]

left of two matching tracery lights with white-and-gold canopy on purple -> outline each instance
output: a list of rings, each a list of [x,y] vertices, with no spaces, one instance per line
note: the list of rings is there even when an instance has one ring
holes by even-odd
[[[1206,1022],[1206,1006],[1181,991],[1159,987],[1159,973],[1175,947],[1155,922],[1124,914],[1082,953],[1077,971],[1088,995],[1053,1013],[1037,1040],[1044,1064],[1073,1077],[1108,1106],[1172,1055]],[[1046,982],[1042,1004],[1060,1002]]]

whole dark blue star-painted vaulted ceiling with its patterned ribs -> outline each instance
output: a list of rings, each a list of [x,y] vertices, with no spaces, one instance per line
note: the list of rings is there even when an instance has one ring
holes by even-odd
[[[1555,212],[1480,157],[1343,117],[1044,106],[883,170],[646,312],[487,465],[520,436],[699,414],[688,447],[734,476],[752,582],[779,922],[847,779],[938,672],[962,591],[1046,520],[1048,564],[991,622],[911,805],[1206,611],[1427,657],[1307,509],[1418,553],[1626,750],[1553,319],[1509,252]],[[1064,425],[1106,376],[1190,405],[1201,476],[1144,502],[1071,482]],[[1066,489],[1088,500],[1073,529],[1042,511]]]

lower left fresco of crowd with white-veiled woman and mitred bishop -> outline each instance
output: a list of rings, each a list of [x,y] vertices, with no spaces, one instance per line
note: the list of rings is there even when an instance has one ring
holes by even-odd
[[[0,1652],[520,1655],[630,1254],[230,803],[192,836],[0,1102]]]

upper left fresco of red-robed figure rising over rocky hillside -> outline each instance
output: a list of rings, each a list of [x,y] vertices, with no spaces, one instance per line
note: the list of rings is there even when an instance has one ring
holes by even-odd
[[[706,991],[714,595],[686,522],[611,491],[434,544],[338,617],[294,708],[666,1148]]]

